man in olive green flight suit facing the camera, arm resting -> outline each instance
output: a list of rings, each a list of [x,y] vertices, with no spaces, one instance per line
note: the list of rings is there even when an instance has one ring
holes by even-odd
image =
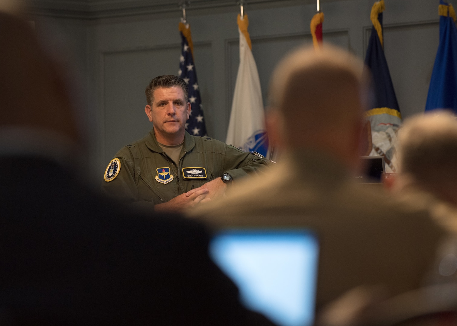
[[[187,133],[191,104],[180,77],[152,79],[146,100],[153,129],[108,164],[102,185],[107,195],[156,211],[181,211],[222,196],[232,180],[270,164],[257,153]]]

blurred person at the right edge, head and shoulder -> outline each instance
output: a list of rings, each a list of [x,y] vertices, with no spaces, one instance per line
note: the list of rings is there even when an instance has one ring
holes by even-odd
[[[399,173],[392,192],[430,210],[449,231],[438,247],[429,282],[457,281],[457,121],[443,110],[407,119],[399,129]]]

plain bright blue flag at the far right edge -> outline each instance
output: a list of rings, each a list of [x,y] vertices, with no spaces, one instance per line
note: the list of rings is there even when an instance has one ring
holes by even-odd
[[[452,5],[441,0],[440,45],[430,79],[425,111],[450,109],[457,113],[457,28]]]

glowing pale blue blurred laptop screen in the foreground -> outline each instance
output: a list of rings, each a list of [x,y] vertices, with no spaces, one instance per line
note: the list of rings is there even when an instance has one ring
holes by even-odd
[[[210,242],[213,261],[238,286],[246,308],[279,326],[314,322],[319,244],[303,230],[225,230]]]

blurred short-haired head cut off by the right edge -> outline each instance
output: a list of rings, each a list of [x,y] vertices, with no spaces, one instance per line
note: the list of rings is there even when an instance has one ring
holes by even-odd
[[[457,121],[446,111],[418,115],[399,130],[400,176],[457,205]]]

